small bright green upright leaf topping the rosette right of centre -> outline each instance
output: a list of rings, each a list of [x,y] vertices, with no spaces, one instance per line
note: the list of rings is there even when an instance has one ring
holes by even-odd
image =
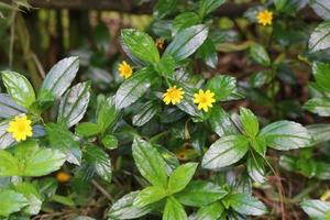
[[[258,121],[256,116],[249,109],[240,108],[240,120],[248,136],[254,139],[258,133]]]

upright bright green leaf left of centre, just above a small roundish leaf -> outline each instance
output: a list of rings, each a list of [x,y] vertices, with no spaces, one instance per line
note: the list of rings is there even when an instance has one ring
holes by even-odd
[[[101,132],[106,132],[109,127],[112,127],[119,117],[119,110],[116,109],[114,98],[109,97],[101,102],[100,109],[97,112],[97,122],[101,127]]]

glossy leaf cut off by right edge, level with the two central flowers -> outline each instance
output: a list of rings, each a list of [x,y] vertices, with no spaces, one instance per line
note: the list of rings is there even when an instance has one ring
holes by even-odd
[[[320,117],[330,117],[330,99],[312,98],[305,103],[304,108]]]

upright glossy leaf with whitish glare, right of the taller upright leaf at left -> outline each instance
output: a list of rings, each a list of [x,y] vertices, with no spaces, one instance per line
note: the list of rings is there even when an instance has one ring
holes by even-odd
[[[89,102],[89,82],[77,84],[61,98],[57,113],[58,123],[70,128],[82,119]]]

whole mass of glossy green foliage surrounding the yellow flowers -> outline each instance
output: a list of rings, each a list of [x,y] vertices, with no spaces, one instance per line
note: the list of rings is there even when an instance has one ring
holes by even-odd
[[[305,43],[305,33],[288,31],[297,25],[288,20],[298,16],[307,4],[320,18],[330,19],[327,0],[274,0],[266,7],[249,9],[244,15],[251,23],[256,22],[258,11],[274,11],[276,21],[261,31],[267,35],[267,46],[250,41],[238,46],[233,42],[238,33],[219,30],[211,14],[224,0],[189,3],[160,0],[150,34],[135,29],[121,31],[120,43],[134,64],[134,73],[110,95],[94,92],[90,81],[70,87],[79,68],[76,56],[54,65],[37,92],[23,75],[1,72],[7,89],[7,94],[0,94],[1,218],[29,219],[47,212],[50,202],[78,206],[82,201],[77,195],[95,179],[111,186],[113,170],[118,176],[130,173],[138,186],[123,187],[125,195],[116,194],[116,199],[122,197],[110,207],[106,205],[109,219],[265,216],[270,209],[252,188],[253,183],[267,185],[270,173],[277,175],[268,162],[270,151],[298,150],[294,151],[298,154],[282,155],[278,164],[308,178],[330,178],[330,164],[314,157],[315,146],[330,140],[330,124],[305,128],[284,120],[298,118],[285,109],[299,103],[276,101],[282,82],[297,84],[292,70],[292,63],[297,61],[289,61],[290,45],[299,48]],[[156,37],[166,42],[165,48],[157,48]],[[319,117],[330,116],[330,65],[324,56],[329,42],[329,21],[324,21],[311,32],[306,52],[299,54],[300,61],[311,64],[316,80],[309,84],[312,98],[304,108]],[[101,56],[106,54],[103,43],[100,37],[97,47]],[[278,45],[285,50],[282,52]],[[219,51],[246,52],[246,65],[257,70],[246,81],[222,73],[207,79],[195,74],[194,66],[200,61],[200,69],[215,72]],[[163,95],[173,86],[183,89],[183,99],[165,105]],[[194,102],[199,90],[215,94],[216,103],[209,111]],[[224,110],[223,105],[245,97],[271,108],[276,120],[262,120],[243,107],[238,112]],[[23,114],[32,121],[33,136],[16,142],[8,128]],[[75,201],[70,198],[74,196],[58,194],[61,187],[52,173],[59,169],[74,176],[67,188],[77,194]],[[101,193],[108,194],[103,188]],[[304,200],[300,206],[310,218],[329,218],[327,201]]]

